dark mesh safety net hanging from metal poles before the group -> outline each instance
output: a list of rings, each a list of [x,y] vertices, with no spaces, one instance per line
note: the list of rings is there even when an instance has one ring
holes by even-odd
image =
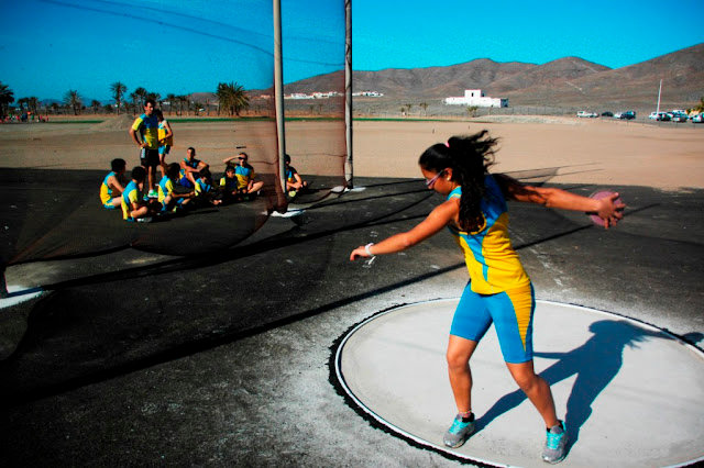
[[[217,253],[251,236],[290,202],[315,203],[343,187],[344,2],[314,3],[282,5],[285,147],[292,159],[287,175],[305,182],[298,190],[282,187],[272,1],[42,3],[42,14],[33,20],[36,31],[53,31],[52,18],[67,12],[76,24],[95,30],[96,41],[102,42],[96,46],[109,60],[97,63],[87,53],[73,56],[92,70],[86,82],[100,82],[111,98],[92,108],[84,98],[78,111],[46,103],[34,110],[45,119],[0,125],[3,274],[13,265],[45,260],[100,263],[106,254],[124,249],[169,256]],[[70,41],[36,41],[28,60],[74,46]],[[125,88],[119,107],[116,82]],[[81,92],[80,83],[76,87]],[[233,101],[233,91],[244,100]],[[165,163],[180,164],[188,159],[187,149],[195,148],[196,159],[208,165],[211,192],[196,208],[174,212],[169,207],[151,222],[129,222],[119,207],[102,205],[99,188],[114,158],[127,161],[123,187],[140,165],[129,130],[147,98],[156,101],[173,130]],[[223,200],[224,160],[238,165],[241,153],[249,158],[253,181],[262,183],[256,192]],[[162,177],[160,167],[154,182]],[[188,190],[176,183],[176,191]]]

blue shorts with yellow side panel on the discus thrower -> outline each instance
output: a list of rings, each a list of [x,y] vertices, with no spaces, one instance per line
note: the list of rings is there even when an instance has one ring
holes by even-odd
[[[468,282],[454,311],[450,334],[479,342],[494,323],[506,363],[532,359],[532,285],[496,294],[479,294]]]

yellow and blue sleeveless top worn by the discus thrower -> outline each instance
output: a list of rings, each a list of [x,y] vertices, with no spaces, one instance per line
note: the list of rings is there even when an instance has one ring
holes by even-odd
[[[449,225],[455,241],[464,253],[470,271],[472,291],[494,294],[530,283],[518,254],[508,237],[508,207],[501,187],[491,175],[484,178],[486,194],[481,203],[484,223],[476,232],[468,233]],[[448,194],[448,200],[462,197],[458,187]]]

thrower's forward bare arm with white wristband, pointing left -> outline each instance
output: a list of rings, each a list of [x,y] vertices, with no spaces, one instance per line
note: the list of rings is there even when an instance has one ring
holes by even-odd
[[[449,222],[453,221],[457,218],[459,210],[460,203],[458,199],[447,200],[444,203],[432,210],[425,220],[410,231],[394,234],[378,244],[369,246],[369,248],[364,245],[359,246],[352,250],[352,254],[350,254],[350,260],[374,255],[393,254],[395,252],[402,252],[413,247],[419,242],[432,236],[443,229]]]

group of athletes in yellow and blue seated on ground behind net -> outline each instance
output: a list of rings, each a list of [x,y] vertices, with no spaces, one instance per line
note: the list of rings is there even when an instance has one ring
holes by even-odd
[[[204,205],[220,205],[254,199],[264,182],[255,179],[254,168],[248,163],[246,153],[228,157],[217,187],[208,164],[196,158],[196,149],[189,147],[180,163],[163,164],[162,178],[156,190],[146,191],[147,169],[135,166],[131,180],[124,185],[127,163],[117,158],[100,185],[100,201],[108,210],[122,209],[125,221],[150,222],[153,216],[179,212]],[[307,188],[286,155],[286,190],[289,197]],[[146,192],[146,194],[145,194]]]

